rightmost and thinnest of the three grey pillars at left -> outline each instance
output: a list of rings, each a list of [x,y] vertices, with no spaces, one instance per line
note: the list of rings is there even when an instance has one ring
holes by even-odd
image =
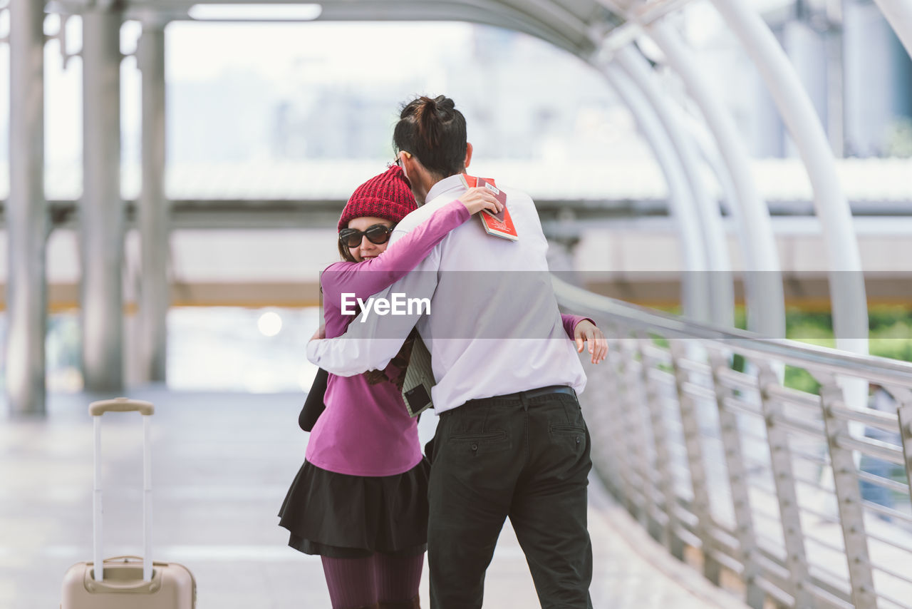
[[[145,23],[136,53],[142,72],[142,191],[139,355],[140,381],[165,381],[170,205],[165,198],[165,35],[163,23]]]

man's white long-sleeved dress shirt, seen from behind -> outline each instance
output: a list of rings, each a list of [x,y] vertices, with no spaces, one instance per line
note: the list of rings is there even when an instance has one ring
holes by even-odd
[[[545,260],[547,241],[532,198],[502,189],[519,235],[509,241],[484,232],[472,217],[428,257],[377,298],[429,298],[430,315],[368,314],[342,336],[307,344],[307,359],[330,373],[382,370],[413,327],[430,349],[434,409],[468,400],[567,385],[579,394],[586,373],[567,339]],[[459,175],[441,180],[396,226],[390,243],[465,192]]]

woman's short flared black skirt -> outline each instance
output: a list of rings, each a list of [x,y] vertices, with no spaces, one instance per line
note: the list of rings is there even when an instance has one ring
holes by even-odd
[[[288,545],[330,558],[414,556],[428,547],[427,459],[395,476],[348,476],[305,461],[279,509]]]

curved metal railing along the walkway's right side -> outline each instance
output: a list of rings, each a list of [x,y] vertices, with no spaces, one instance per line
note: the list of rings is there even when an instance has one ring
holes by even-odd
[[[758,609],[912,607],[912,364],[554,285],[609,340],[581,396],[596,472],[668,551]],[[891,407],[849,407],[850,379]]]

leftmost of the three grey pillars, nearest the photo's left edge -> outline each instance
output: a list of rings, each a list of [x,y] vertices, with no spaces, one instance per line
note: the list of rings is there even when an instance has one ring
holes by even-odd
[[[49,226],[44,191],[45,14],[43,3],[33,0],[12,0],[9,12],[6,394],[13,413],[43,415]]]

